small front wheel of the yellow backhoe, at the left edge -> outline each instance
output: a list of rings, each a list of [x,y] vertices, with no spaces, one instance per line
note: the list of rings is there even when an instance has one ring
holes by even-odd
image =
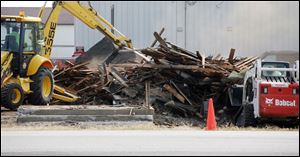
[[[1,104],[10,110],[17,110],[24,101],[24,92],[19,84],[11,83],[1,88]]]

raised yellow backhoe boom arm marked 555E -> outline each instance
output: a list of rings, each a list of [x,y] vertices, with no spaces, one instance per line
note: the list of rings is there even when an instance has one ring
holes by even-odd
[[[40,11],[39,16],[42,16],[44,12],[43,9],[44,7]],[[133,48],[131,40],[119,32],[101,15],[99,15],[90,5],[90,3],[89,6],[87,6],[79,3],[78,1],[55,1],[53,2],[52,11],[44,28],[45,52],[43,55],[45,57],[50,58],[56,25],[62,9],[68,11],[91,29],[97,29],[102,32],[119,47],[126,46],[128,48]],[[112,33],[112,30],[116,32],[117,35]]]

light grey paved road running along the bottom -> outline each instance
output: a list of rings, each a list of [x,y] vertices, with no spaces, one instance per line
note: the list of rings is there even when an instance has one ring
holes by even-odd
[[[294,155],[298,131],[1,131],[5,155]]]

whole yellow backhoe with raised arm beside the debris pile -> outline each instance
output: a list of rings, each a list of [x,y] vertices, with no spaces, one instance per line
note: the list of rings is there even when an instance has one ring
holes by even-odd
[[[52,98],[75,102],[78,96],[55,85],[51,52],[62,9],[97,29],[117,46],[133,48],[131,40],[100,16],[88,2],[54,1],[47,22],[42,24],[45,5],[38,17],[1,15],[1,106],[16,110],[28,100],[32,105],[49,104]],[[114,31],[115,33],[112,33]]]

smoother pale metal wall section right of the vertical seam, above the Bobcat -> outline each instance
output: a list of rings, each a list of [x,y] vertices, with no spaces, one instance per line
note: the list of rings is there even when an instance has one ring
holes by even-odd
[[[188,8],[187,48],[241,56],[270,50],[299,51],[299,4],[288,2],[197,2]],[[228,31],[232,28],[232,31]]]

